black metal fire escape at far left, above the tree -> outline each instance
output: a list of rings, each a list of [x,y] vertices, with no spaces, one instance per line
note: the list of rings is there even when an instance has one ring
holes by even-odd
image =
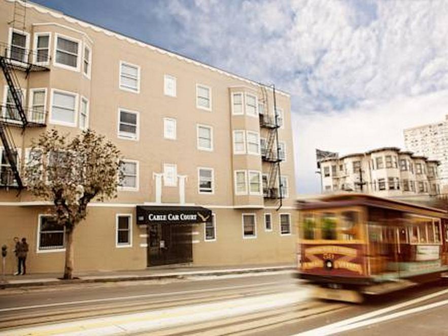
[[[27,79],[32,72],[48,71],[46,66],[38,65],[34,61],[49,61],[46,55],[37,54],[30,50],[0,43],[4,53],[0,55],[2,68],[8,86],[6,104],[1,107],[0,139],[3,144],[3,155],[0,157],[0,187],[13,187],[21,190],[23,181],[20,177],[18,151],[10,127],[20,127],[22,133],[26,127],[43,127],[46,123],[46,111],[43,108],[25,108],[25,97],[20,87],[16,72],[24,73]]]

